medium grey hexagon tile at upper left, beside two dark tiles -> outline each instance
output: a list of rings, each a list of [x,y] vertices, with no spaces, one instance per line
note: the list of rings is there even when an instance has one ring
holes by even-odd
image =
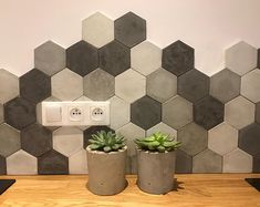
[[[48,41],[34,50],[34,66],[53,75],[66,65],[66,52],[59,44]]]

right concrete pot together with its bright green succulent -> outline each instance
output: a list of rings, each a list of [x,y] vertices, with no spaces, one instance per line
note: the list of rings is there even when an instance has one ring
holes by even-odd
[[[156,132],[148,137],[136,138],[137,185],[149,194],[166,194],[174,188],[176,152],[180,142]]]

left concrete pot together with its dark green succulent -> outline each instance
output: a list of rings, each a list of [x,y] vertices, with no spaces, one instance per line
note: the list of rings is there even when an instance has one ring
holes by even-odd
[[[125,138],[114,132],[101,131],[92,135],[86,147],[87,188],[96,195],[115,195],[127,185],[125,179]]]

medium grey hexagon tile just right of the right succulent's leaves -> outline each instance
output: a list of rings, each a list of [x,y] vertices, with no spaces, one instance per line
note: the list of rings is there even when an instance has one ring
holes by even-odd
[[[195,123],[189,123],[178,131],[180,149],[188,155],[196,155],[207,148],[208,132]]]

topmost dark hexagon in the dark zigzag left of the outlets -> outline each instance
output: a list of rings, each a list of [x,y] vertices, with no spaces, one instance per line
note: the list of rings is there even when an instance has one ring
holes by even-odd
[[[39,103],[51,95],[51,77],[33,69],[20,77],[20,95]]]

